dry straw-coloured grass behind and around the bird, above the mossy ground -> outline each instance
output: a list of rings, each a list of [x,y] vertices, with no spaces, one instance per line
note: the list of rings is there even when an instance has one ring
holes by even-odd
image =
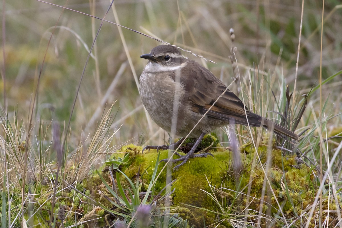
[[[73,170],[67,175],[69,185],[84,178],[91,167],[123,143],[157,145],[168,138],[144,112],[138,93],[138,78],[146,64],[139,56],[159,43],[112,23],[103,21],[101,25],[108,1],[50,3],[57,5],[34,0],[3,2],[0,98],[4,112],[1,113],[0,169],[4,171],[1,181],[5,181],[1,186],[7,190],[22,188],[23,176],[26,183],[37,179],[38,174],[40,182],[46,176],[53,176],[56,169],[53,137],[61,139],[63,169]],[[293,1],[114,3],[106,21],[216,62],[188,54],[227,85],[239,75],[238,83],[229,89],[240,90],[247,106],[268,118],[279,119],[279,116],[267,111],[284,111],[277,104],[285,101],[286,84],[290,85],[290,91],[295,89],[291,106],[295,116],[303,103],[302,95],[317,86],[320,77],[325,80],[341,70],[342,6],[338,2],[325,3],[323,33],[320,32],[322,5],[314,0],[306,1],[304,8],[302,2]],[[229,59],[230,28],[234,28],[236,35],[235,67]],[[325,139],[342,132],[341,72],[331,78],[318,87],[321,92],[318,89],[310,95],[297,132],[311,129],[303,135],[299,148],[306,156],[304,159],[322,170],[320,190],[337,201],[342,144],[340,138]],[[52,122],[62,126],[60,136],[52,134]],[[262,138],[253,139],[253,136],[260,135],[260,131],[238,127],[239,144],[252,138],[257,148]],[[218,130],[218,135],[223,141],[228,138],[224,129]],[[65,177],[65,173],[61,175]],[[316,197],[319,201],[319,193]],[[320,223],[329,227],[328,220]]]

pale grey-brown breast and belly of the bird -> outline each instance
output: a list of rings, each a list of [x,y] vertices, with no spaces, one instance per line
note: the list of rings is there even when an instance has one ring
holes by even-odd
[[[169,133],[175,130],[177,136],[185,137],[192,132],[190,137],[198,137],[202,132],[211,132],[220,125],[216,121],[212,122],[212,118],[202,118],[200,113],[192,111],[192,103],[184,86],[171,78],[169,80],[149,74],[140,77],[140,97],[153,121]],[[177,105],[174,105],[174,101]]]

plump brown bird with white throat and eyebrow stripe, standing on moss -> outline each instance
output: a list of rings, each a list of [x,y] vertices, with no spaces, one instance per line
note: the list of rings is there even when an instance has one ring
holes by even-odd
[[[174,122],[176,135],[186,137],[191,131],[189,136],[197,137],[196,143],[185,156],[177,154],[180,158],[172,160],[182,161],[174,169],[178,169],[190,157],[206,157],[208,153],[194,155],[203,136],[229,122],[262,126],[282,138],[287,139],[288,136],[298,140],[298,135],[292,131],[249,111],[221,80],[197,62],[184,58],[177,48],[159,45],[140,57],[149,60],[140,76],[140,97],[151,118],[169,133]],[[170,146],[146,146],[144,150],[175,148],[183,139]]]

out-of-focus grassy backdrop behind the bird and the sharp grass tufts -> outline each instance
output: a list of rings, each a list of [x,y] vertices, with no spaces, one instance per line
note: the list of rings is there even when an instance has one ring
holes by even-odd
[[[2,2],[0,62],[5,81],[2,78],[0,102],[4,106],[6,100],[10,118],[17,110],[19,119],[27,124],[38,88],[34,119],[46,124],[55,119],[63,132],[85,68],[71,118],[70,138],[79,138],[81,132],[89,134],[103,111],[115,102],[110,129],[116,132],[113,144],[159,144],[167,140],[168,134],[145,113],[137,88],[137,80],[147,64],[140,55],[160,43],[124,28],[120,28],[120,35],[118,26],[104,22],[87,62],[88,51],[109,5],[110,1],[104,0]],[[105,19],[216,62],[186,55],[208,67],[226,85],[234,78],[228,58],[232,47],[229,29],[233,28],[241,77],[258,69],[279,81],[277,85],[282,76],[290,90],[295,89],[296,96],[301,96],[318,84],[320,57],[323,80],[342,68],[341,2],[325,1],[322,55],[322,1],[304,2],[294,88],[301,13],[302,1],[293,0],[117,0]],[[234,91],[234,87],[231,89]],[[272,89],[277,91],[276,86]],[[341,89],[341,75],[323,86],[323,102],[330,95],[327,116],[341,113]],[[310,97],[310,113],[320,110],[319,99],[317,90]],[[50,107],[54,107],[53,112]],[[329,122],[328,129],[333,131],[339,125],[341,116]]]

